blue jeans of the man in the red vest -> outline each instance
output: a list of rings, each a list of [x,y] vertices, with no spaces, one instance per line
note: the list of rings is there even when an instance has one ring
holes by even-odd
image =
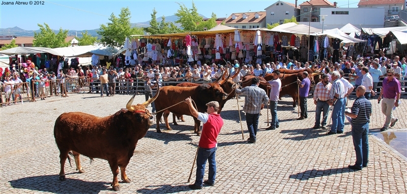
[[[195,185],[202,186],[203,182],[203,175],[205,175],[205,165],[207,164],[207,160],[209,161],[209,176],[208,182],[215,183],[215,176],[216,176],[216,150],[218,148],[198,148],[198,153],[196,156],[196,179]]]

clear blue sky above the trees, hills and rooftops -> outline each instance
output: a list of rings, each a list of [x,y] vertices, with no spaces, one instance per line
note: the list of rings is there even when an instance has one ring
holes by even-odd
[[[29,2],[20,0],[22,2]],[[8,2],[0,0],[0,2]],[[9,2],[14,2],[9,0]],[[122,7],[129,7],[131,22],[143,22],[151,19],[153,8],[157,16],[170,16],[177,12],[179,5],[183,3],[188,8],[192,7],[192,1],[44,1],[44,5],[0,5],[0,28],[18,26],[26,30],[39,29],[38,23],[47,23],[52,29],[83,30],[96,29],[100,24],[109,20],[111,13],[118,15]],[[217,17],[226,17],[231,13],[264,11],[265,8],[276,1],[197,1],[195,6],[198,12],[206,17],[211,17],[214,12]],[[294,0],[285,2],[295,4]],[[304,0],[299,0],[298,5]],[[331,0],[333,3],[334,1]],[[359,0],[336,0],[339,7],[357,7]],[[1,4],[1,3],[0,3]]]

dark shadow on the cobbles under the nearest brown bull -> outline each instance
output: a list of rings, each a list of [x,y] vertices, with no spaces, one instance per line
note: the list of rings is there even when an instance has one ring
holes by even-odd
[[[67,174],[68,175],[68,174]],[[102,190],[111,190],[110,182],[87,182],[79,179],[60,181],[58,175],[43,175],[34,177],[24,177],[9,181],[13,188],[23,188],[53,193],[91,193]],[[111,190],[113,191],[113,190]]]

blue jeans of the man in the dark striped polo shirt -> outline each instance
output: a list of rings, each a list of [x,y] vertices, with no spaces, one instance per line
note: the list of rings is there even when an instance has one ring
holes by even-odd
[[[352,123],[352,139],[356,152],[355,165],[362,168],[367,166],[369,158],[369,122],[366,123]]]

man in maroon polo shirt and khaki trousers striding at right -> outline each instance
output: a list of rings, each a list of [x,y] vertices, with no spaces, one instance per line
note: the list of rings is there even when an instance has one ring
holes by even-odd
[[[393,107],[398,107],[398,101],[400,99],[400,82],[394,78],[394,69],[387,70],[387,78],[383,80],[383,87],[380,91],[377,102],[380,103],[383,95],[382,113],[386,115],[385,124],[380,129],[384,132],[388,130],[389,125],[394,126],[398,121],[398,118],[393,116]]]

